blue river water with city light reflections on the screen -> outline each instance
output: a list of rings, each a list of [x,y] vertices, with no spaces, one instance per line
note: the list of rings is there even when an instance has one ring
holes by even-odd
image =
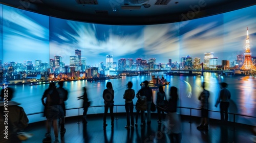
[[[153,73],[161,77],[163,73]],[[219,111],[219,107],[214,107],[219,95],[220,82],[228,83],[228,88],[231,92],[230,112],[256,116],[256,79],[255,77],[232,77],[220,76],[213,73],[204,73],[204,76],[166,76],[164,78],[170,82],[170,85],[164,86],[166,94],[169,93],[171,86],[176,86],[179,89],[179,106],[199,108],[200,101],[198,96],[202,91],[201,83],[206,82],[206,89],[210,91],[209,109]],[[151,75],[122,77],[121,79],[109,80],[113,84],[115,91],[115,105],[124,105],[123,93],[126,89],[128,81],[133,82],[133,89],[138,91],[140,83],[144,80],[152,80]],[[105,89],[106,81],[88,82],[87,80],[65,82],[64,87],[69,91],[69,99],[67,101],[67,108],[81,107],[82,101],[77,100],[78,96],[83,94],[82,87],[87,87],[89,99],[92,106],[103,105],[102,93]],[[16,85],[12,86],[15,89],[14,101],[22,103],[26,113],[35,113],[42,111],[41,96],[48,84],[42,85]],[[154,102],[156,102],[157,90],[153,90]],[[134,100],[134,103],[136,99]],[[219,118],[219,117],[216,117]]]

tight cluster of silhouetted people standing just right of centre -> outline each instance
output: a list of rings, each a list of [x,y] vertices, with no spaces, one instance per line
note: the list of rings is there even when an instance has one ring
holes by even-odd
[[[142,88],[136,94],[137,102],[135,124],[133,115],[133,99],[135,98],[135,91],[132,89],[132,82],[128,82],[126,86],[127,89],[124,91],[123,99],[125,99],[127,124],[124,127],[126,129],[134,128],[134,126],[138,127],[138,115],[140,112],[141,127],[143,128],[145,125],[145,120],[147,120],[147,125],[151,125],[151,104],[153,102],[153,93],[152,89],[148,87],[148,81],[143,82]],[[180,117],[177,114],[177,102],[178,89],[176,87],[170,87],[169,98],[167,100],[163,87],[159,86],[159,91],[157,92],[158,124],[161,124],[162,118],[164,117],[164,112],[167,112],[167,124],[165,126],[170,130],[168,134],[170,135],[172,142],[181,142],[181,122]],[[147,111],[146,119],[144,114],[145,111]]]

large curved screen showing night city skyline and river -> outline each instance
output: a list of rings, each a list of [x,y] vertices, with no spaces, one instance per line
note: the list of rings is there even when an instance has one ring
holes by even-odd
[[[14,88],[13,100],[31,114],[42,111],[40,99],[50,81],[65,81],[68,109],[81,107],[82,101],[77,97],[83,94],[84,86],[91,106],[103,105],[102,93],[109,81],[115,90],[115,105],[124,105],[127,82],[132,81],[133,89],[138,91],[144,80],[156,80],[152,76],[169,82],[164,85],[167,95],[171,86],[179,89],[179,106],[200,108],[198,96],[201,83],[206,82],[210,91],[209,109],[214,111],[219,111],[214,106],[219,83],[226,82],[231,92],[229,112],[255,117],[255,7],[162,25],[112,26],[0,5],[0,83]],[[241,70],[248,60],[245,55],[251,56],[253,65],[247,73]],[[197,71],[196,74],[187,75],[191,70]],[[153,88],[155,103],[157,92]],[[92,107],[88,112],[103,111],[103,107]],[[74,112],[70,110],[67,115]],[[124,106],[118,107],[117,112],[125,112]],[[190,114],[186,109],[179,112]],[[199,112],[195,110],[193,115]],[[210,117],[220,118],[220,115],[211,112]],[[30,122],[39,120],[30,117]],[[245,116],[236,120],[256,123],[255,118]]]

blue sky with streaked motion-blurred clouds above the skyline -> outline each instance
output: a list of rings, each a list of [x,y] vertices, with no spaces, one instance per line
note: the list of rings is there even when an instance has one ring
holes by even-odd
[[[245,51],[249,29],[252,56],[256,56],[256,6],[205,18],[150,26],[111,26],[77,22],[39,15],[1,5],[3,13],[4,62],[42,60],[55,55],[69,64],[69,56],[81,50],[87,64],[97,66],[105,56],[120,58],[156,58],[157,63],[180,61],[181,57],[199,57],[214,52],[221,60],[236,60]],[[0,10],[2,12],[2,10]],[[1,48],[1,47],[0,47]],[[2,57],[1,57],[2,56]]]

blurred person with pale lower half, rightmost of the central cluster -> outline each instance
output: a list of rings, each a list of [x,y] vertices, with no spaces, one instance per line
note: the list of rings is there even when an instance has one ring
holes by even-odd
[[[170,87],[168,108],[167,108],[167,129],[170,129],[170,140],[172,142],[181,142],[182,129],[180,116],[177,114],[178,89]]]

